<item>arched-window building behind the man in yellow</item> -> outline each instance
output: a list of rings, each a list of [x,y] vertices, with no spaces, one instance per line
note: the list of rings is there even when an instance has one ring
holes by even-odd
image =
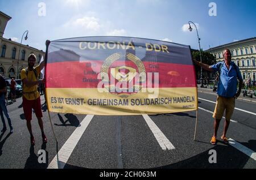
[[[20,79],[20,71],[28,66],[28,55],[34,53],[37,58],[36,65],[38,65],[45,53],[43,50],[20,44],[10,38],[3,38],[10,19],[10,16],[0,11],[0,73],[5,78]]]

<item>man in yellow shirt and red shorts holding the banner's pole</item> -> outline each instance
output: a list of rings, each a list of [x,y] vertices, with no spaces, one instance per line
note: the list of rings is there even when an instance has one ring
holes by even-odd
[[[23,83],[23,110],[27,120],[27,128],[30,132],[31,145],[35,145],[35,139],[32,134],[31,119],[32,108],[35,110],[38,123],[42,131],[43,143],[47,143],[46,135],[44,134],[43,121],[42,121],[42,109],[41,100],[37,87],[39,84],[45,83],[45,80],[38,80],[40,71],[44,68],[44,61],[40,62],[39,66],[35,66],[36,56],[30,54],[28,57],[28,67],[23,68],[21,71],[21,79]]]

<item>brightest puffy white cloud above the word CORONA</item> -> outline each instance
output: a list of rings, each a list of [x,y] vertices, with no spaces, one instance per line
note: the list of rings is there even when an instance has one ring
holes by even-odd
[[[92,31],[99,31],[101,28],[99,22],[100,20],[97,18],[84,16],[83,18],[69,20],[69,22],[64,24],[64,27],[84,28]]]

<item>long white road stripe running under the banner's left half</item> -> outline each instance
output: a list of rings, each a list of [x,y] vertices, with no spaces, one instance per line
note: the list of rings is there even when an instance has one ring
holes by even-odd
[[[69,156],[71,156],[76,144],[79,142],[82,134],[84,134],[85,129],[92,120],[93,115],[86,115],[86,117],[80,123],[80,126],[72,133],[68,138],[67,142],[61,147],[60,151],[53,158],[51,163],[48,165],[47,169],[63,169],[68,161]]]

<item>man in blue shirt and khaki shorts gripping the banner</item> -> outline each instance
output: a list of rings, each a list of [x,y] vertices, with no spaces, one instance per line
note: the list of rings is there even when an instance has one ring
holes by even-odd
[[[240,96],[242,89],[242,75],[239,68],[236,66],[234,62],[231,61],[231,53],[229,49],[224,50],[225,61],[218,62],[215,65],[209,66],[204,63],[198,62],[195,59],[193,61],[196,65],[203,67],[205,70],[210,72],[219,72],[218,79],[218,88],[217,88],[217,102],[215,106],[215,110],[213,113],[214,121],[214,134],[210,143],[213,145],[216,144],[216,136],[218,131],[218,126],[220,125],[220,121],[224,110],[226,110],[225,115],[225,126],[224,132],[221,136],[221,140],[225,143],[228,143],[228,139],[226,138],[226,132],[228,131],[230,119],[232,117],[234,107],[235,107],[235,99]],[[237,79],[239,79],[239,89],[237,92]]]

